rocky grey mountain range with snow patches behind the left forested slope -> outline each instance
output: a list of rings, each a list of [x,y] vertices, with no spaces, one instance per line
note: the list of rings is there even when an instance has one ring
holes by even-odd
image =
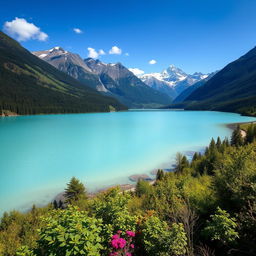
[[[172,101],[166,94],[148,87],[121,63],[106,64],[92,58],[83,60],[61,47],[33,54],[130,108],[160,107]]]

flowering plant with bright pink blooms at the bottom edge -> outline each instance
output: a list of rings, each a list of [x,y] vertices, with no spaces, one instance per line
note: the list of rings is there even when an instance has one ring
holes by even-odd
[[[127,230],[124,233],[118,230],[111,238],[110,246],[112,251],[109,256],[132,256],[134,237],[135,233],[133,231]]]

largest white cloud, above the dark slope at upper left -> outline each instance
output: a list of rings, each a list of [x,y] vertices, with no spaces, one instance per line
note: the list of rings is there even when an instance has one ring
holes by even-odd
[[[3,30],[8,35],[15,37],[18,41],[27,41],[30,39],[45,41],[48,38],[48,35],[42,32],[39,27],[27,22],[23,18],[16,17],[12,21],[6,21]]]

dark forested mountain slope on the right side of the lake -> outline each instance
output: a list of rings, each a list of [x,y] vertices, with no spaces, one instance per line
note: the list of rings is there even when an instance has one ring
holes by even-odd
[[[186,98],[188,109],[256,113],[256,47]]]

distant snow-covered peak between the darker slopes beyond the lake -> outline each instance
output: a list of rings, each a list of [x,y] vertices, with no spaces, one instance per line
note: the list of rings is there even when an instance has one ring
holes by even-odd
[[[205,79],[208,74],[196,72],[186,74],[180,68],[170,65],[161,73],[150,73],[139,76],[139,78],[148,86],[163,92],[173,99],[180,93],[189,88],[198,81]]]

